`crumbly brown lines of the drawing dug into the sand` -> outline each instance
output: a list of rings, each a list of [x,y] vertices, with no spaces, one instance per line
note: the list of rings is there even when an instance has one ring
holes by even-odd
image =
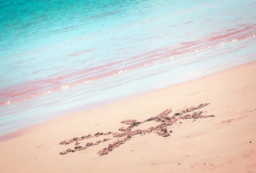
[[[145,135],[146,133],[149,134],[151,132],[154,132],[154,133],[157,133],[159,136],[168,137],[168,136],[171,135],[172,130],[168,130],[167,126],[171,126],[173,123],[175,123],[179,119],[193,119],[193,121],[195,121],[195,119],[198,119],[198,118],[214,117],[214,115],[202,115],[203,111],[193,112],[192,115],[191,114],[186,114],[187,112],[192,112],[194,110],[199,110],[200,108],[205,107],[208,104],[210,104],[210,103],[200,104],[198,107],[190,107],[189,109],[183,110],[182,112],[175,113],[171,117],[168,116],[172,112],[172,109],[170,108],[170,109],[164,110],[163,112],[156,115],[155,117],[148,118],[147,120],[144,120],[144,121],[141,121],[141,122],[137,121],[137,120],[120,121],[121,124],[129,124],[129,126],[126,127],[126,128],[125,127],[120,127],[119,130],[118,130],[118,131],[120,131],[120,133],[118,133],[118,132],[115,132],[115,133],[113,133],[113,132],[108,132],[108,133],[98,132],[98,133],[94,134],[93,136],[91,134],[89,134],[89,135],[86,135],[86,136],[74,137],[74,138],[71,138],[70,140],[61,141],[59,143],[61,145],[68,145],[68,144],[71,144],[71,143],[75,142],[75,148],[74,149],[69,148],[65,151],[61,151],[60,155],[64,155],[64,154],[67,154],[67,153],[70,153],[70,152],[73,153],[73,152],[76,152],[76,151],[85,150],[86,148],[91,147],[93,145],[97,145],[99,143],[111,140],[109,138],[104,138],[102,141],[98,140],[95,143],[87,142],[87,144],[84,147],[79,145],[80,144],[79,141],[82,141],[84,139],[99,137],[99,136],[102,136],[102,135],[103,136],[108,136],[108,135],[112,134],[113,138],[121,138],[121,137],[124,137],[124,136],[125,137],[122,138],[122,139],[117,139],[112,144],[108,144],[108,147],[105,147],[102,150],[99,150],[99,152],[98,152],[99,156],[108,154],[114,148],[119,147],[121,144],[124,144],[125,141],[130,140],[132,138],[132,136],[135,136],[135,135],[139,135],[139,134],[140,135],[143,135],[143,134]],[[207,111],[205,111],[205,112],[207,113]],[[140,124],[143,124],[143,123],[148,122],[148,121],[157,121],[157,122],[161,122],[161,124],[157,125],[156,127],[149,127],[146,130],[137,129],[137,130],[132,131],[133,127],[137,127]]]

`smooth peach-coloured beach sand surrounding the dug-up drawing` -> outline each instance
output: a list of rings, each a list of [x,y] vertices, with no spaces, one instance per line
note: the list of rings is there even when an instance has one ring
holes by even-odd
[[[12,134],[19,137],[0,142],[0,173],[256,173],[255,74],[256,62],[251,62],[20,130]],[[110,141],[59,154],[75,147],[75,142],[60,145],[64,139],[97,132],[123,133],[118,129],[129,124],[120,124],[122,120],[143,121],[169,108],[172,112],[168,116],[172,117],[201,103],[210,104],[197,111],[215,117],[179,119],[168,126],[172,130],[168,137],[154,132],[135,135],[99,156],[99,150],[116,141],[110,134],[84,139],[79,145],[84,147],[103,138]],[[146,121],[132,130],[160,123]]]

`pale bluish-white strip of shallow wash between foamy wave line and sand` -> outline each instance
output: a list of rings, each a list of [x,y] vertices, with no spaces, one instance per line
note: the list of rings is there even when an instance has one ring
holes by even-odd
[[[230,54],[227,54],[225,58],[217,58],[218,60],[212,58],[212,54],[209,57],[204,57],[199,53],[199,58],[195,61],[192,61],[195,58],[192,56],[187,63],[181,58],[177,59],[177,62],[175,60],[173,63],[154,65],[153,70],[151,67],[145,67],[138,78],[133,78],[139,75],[138,72],[136,74],[131,73],[129,76],[127,76],[128,74],[116,75],[113,81],[107,83],[101,81],[94,85],[92,82],[90,85],[80,85],[63,92],[52,93],[31,101],[2,107],[0,109],[0,121],[4,123],[0,126],[0,136],[64,114],[102,107],[106,104],[253,61],[255,60],[255,53],[252,52],[254,50],[252,49],[253,40],[255,39],[252,38],[250,46],[247,45],[246,48],[241,49],[230,47],[234,46],[236,42],[230,43],[229,47],[223,48],[228,50]],[[239,44],[242,44],[242,42]],[[239,53],[235,49],[239,49]],[[151,73],[152,71],[153,73]]]

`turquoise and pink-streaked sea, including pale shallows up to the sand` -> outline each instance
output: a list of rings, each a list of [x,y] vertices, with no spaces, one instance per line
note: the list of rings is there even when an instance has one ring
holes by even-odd
[[[255,35],[253,0],[2,0],[0,135],[256,60]]]

